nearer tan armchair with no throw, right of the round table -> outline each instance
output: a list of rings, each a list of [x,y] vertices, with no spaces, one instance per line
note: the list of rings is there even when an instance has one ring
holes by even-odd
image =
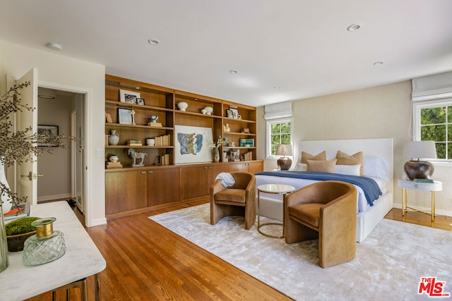
[[[340,181],[308,185],[286,197],[285,242],[319,238],[319,266],[347,262],[356,255],[357,190]]]

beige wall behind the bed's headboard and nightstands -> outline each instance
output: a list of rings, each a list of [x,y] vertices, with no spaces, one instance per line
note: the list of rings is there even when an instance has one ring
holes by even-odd
[[[411,81],[362,90],[302,99],[292,103],[294,151],[300,140],[393,138],[394,202],[401,208],[402,189],[397,179],[403,173],[403,144],[410,141]],[[258,108],[258,159],[266,158],[266,123],[263,107]],[[295,156],[295,159],[297,156]],[[295,160],[294,160],[295,161]],[[276,168],[275,160],[266,160],[266,170]],[[295,163],[294,163],[295,166]],[[450,166],[435,166],[434,179],[443,182],[436,193],[436,213],[452,216],[452,179]],[[408,193],[410,204],[430,209],[429,192]]]

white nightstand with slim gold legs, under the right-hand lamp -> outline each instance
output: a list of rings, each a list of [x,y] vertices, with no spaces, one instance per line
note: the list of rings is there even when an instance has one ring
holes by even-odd
[[[435,192],[443,190],[443,183],[434,181],[433,183],[420,183],[412,180],[398,180],[398,187],[403,188],[402,196],[402,216],[408,211],[420,211],[423,213],[432,213],[432,221],[435,221]],[[432,211],[422,211],[408,207],[408,189],[422,190],[432,192]],[[411,210],[408,210],[411,209]]]

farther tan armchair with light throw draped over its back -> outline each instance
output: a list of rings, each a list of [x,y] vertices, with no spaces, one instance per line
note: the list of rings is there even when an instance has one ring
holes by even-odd
[[[210,186],[210,224],[215,225],[225,216],[244,216],[249,230],[256,221],[256,177],[253,173],[231,173],[235,183],[225,188],[221,180]]]

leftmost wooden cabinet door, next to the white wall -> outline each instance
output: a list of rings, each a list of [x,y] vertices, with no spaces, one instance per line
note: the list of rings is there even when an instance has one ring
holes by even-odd
[[[146,173],[105,173],[105,214],[146,207]]]

